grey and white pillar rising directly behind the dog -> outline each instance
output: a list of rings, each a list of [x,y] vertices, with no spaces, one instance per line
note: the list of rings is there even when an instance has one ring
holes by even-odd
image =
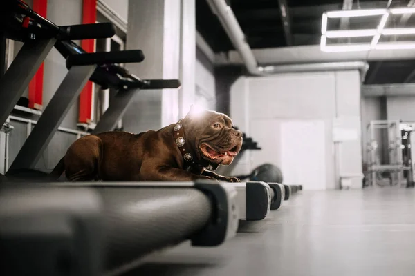
[[[127,68],[141,79],[180,78],[182,88],[140,91],[124,115],[124,130],[156,130],[189,109],[194,97],[194,1],[129,1],[127,50],[142,50],[145,60]]]

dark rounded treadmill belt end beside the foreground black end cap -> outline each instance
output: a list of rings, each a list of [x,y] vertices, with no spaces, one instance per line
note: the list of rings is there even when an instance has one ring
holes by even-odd
[[[210,220],[210,199],[194,188],[97,188],[104,204],[112,270],[189,238]]]

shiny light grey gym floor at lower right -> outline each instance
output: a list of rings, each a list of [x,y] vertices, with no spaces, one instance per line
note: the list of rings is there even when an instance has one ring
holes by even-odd
[[[415,275],[415,190],[302,191],[219,248],[188,243],[128,275]]]

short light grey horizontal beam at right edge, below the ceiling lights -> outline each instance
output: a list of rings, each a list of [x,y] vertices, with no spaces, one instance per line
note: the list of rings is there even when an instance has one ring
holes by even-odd
[[[362,86],[363,97],[415,96],[415,84],[386,84]]]

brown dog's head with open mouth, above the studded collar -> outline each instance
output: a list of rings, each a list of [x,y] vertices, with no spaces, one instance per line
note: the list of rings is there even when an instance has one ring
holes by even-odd
[[[193,106],[183,119],[185,135],[199,160],[208,161],[213,170],[229,165],[242,146],[242,132],[235,130],[230,117]]]

